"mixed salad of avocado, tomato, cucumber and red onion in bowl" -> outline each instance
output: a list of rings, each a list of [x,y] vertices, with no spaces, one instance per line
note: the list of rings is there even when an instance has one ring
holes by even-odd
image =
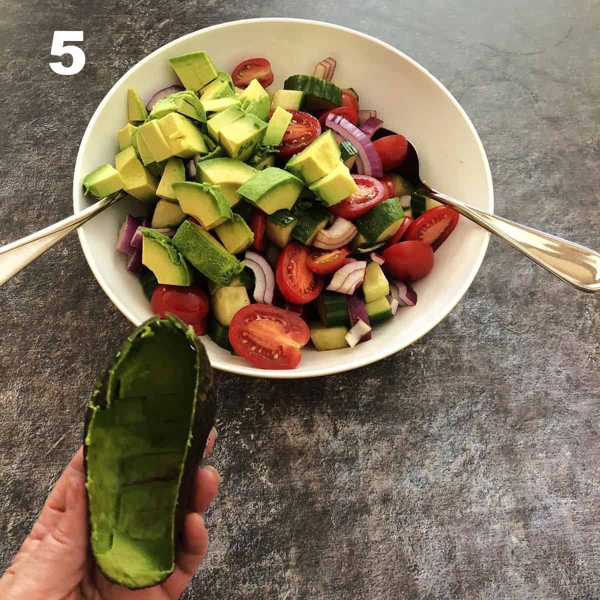
[[[332,78],[273,82],[265,58],[218,71],[170,59],[181,86],[147,104],[128,90],[115,166],[83,179],[148,206],[117,248],[155,313],[173,313],[260,368],[295,368],[302,346],[353,347],[416,304],[458,213],[403,176],[408,145]]]

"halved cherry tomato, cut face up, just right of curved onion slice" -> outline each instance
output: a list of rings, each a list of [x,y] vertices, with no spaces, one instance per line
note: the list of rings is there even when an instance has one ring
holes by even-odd
[[[306,264],[310,250],[300,242],[290,242],[277,261],[275,280],[283,297],[293,304],[307,304],[323,289],[325,280]]]

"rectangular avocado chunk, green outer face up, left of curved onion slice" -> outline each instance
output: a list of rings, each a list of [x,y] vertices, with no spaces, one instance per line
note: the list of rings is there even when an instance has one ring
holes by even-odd
[[[244,269],[244,263],[227,252],[211,233],[191,221],[179,226],[173,245],[198,271],[221,286],[228,286]]]

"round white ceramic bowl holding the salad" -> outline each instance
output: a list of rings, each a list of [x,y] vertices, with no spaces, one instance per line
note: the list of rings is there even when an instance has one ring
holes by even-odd
[[[281,41],[284,40],[284,43]],[[127,123],[127,88],[145,101],[157,89],[179,83],[167,60],[194,50],[206,50],[223,71],[253,56],[271,61],[280,89],[294,73],[312,73],[326,56],[337,59],[334,82],[352,86],[361,106],[376,109],[391,130],[406,135],[421,158],[424,181],[478,208],[493,210],[490,167],[479,136],[464,110],[427,70],[395,48],[352,29],[297,19],[250,19],[223,23],[184,35],[152,52],[113,85],[92,116],[83,136],[73,181],[74,211],[89,205],[83,196],[83,176],[103,163],[113,163],[116,131]],[[376,82],[370,85],[371,82]],[[115,306],[135,325],[151,316],[137,277],[125,271],[125,255],[115,250],[124,215],[141,214],[136,202],[121,202],[79,229],[89,266]],[[454,308],[481,265],[489,236],[461,218],[455,232],[436,252],[433,271],[415,284],[416,307],[403,308],[377,327],[373,340],[353,349],[317,352],[307,348],[292,371],[252,367],[203,340],[215,368],[257,377],[313,377],[370,364],[418,340]]]

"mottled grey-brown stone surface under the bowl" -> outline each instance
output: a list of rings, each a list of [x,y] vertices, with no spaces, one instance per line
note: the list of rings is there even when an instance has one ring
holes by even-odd
[[[497,212],[600,247],[598,0],[0,9],[0,243],[71,211],[86,123],[146,53],[224,20],[295,16],[361,29],[429,68],[478,128]],[[77,76],[47,67],[55,29],[85,31]],[[492,241],[463,301],[398,355],[319,380],[217,374],[223,484],[185,598],[598,598],[599,301]],[[76,236],[0,289],[0,316],[3,569],[130,325]]]

